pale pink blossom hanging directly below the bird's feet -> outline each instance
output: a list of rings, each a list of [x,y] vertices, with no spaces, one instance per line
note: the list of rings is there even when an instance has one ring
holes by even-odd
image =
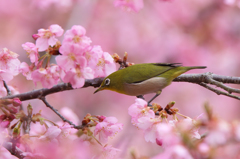
[[[137,125],[138,119],[146,117],[155,118],[155,113],[147,106],[147,102],[141,98],[135,99],[135,103],[128,108],[128,114],[132,117],[132,124]],[[146,120],[147,120],[146,119]]]

